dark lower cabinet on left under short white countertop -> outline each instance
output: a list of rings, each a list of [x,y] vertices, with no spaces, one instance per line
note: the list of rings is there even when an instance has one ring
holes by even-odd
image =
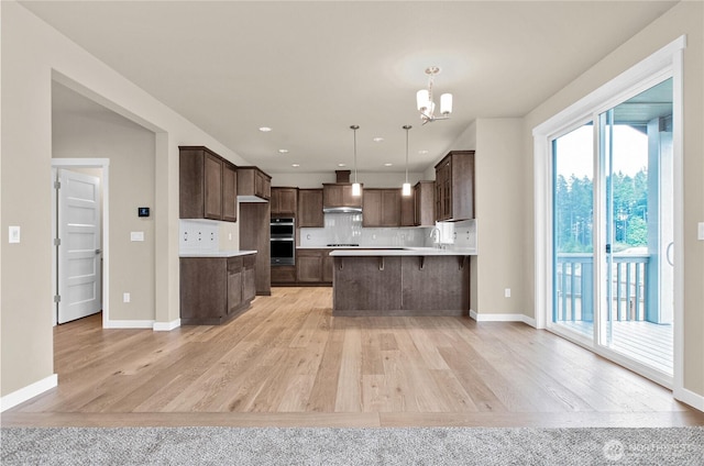
[[[250,307],[256,293],[256,254],[180,258],[180,323],[221,324]]]

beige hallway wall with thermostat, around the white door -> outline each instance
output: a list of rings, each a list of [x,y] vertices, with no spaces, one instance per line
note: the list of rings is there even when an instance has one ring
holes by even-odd
[[[59,84],[53,99],[81,102],[81,111],[52,112],[54,158],[110,160],[110,320],[154,321],[154,153],[153,132],[107,111]],[[138,207],[151,208],[139,218]],[[130,241],[130,232],[144,232],[144,242]],[[129,303],[122,293],[130,292]]]

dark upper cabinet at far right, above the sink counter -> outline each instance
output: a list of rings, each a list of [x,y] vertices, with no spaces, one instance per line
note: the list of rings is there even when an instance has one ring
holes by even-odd
[[[474,219],[474,151],[452,151],[436,165],[436,220]]]

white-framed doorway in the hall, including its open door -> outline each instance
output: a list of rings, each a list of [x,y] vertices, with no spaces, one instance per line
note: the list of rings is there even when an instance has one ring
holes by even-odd
[[[105,326],[109,318],[109,160],[54,158],[52,171],[54,325],[102,311]]]

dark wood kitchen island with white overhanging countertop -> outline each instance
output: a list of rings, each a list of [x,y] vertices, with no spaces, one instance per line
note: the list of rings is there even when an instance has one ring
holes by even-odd
[[[333,315],[463,315],[475,249],[333,251]]]

